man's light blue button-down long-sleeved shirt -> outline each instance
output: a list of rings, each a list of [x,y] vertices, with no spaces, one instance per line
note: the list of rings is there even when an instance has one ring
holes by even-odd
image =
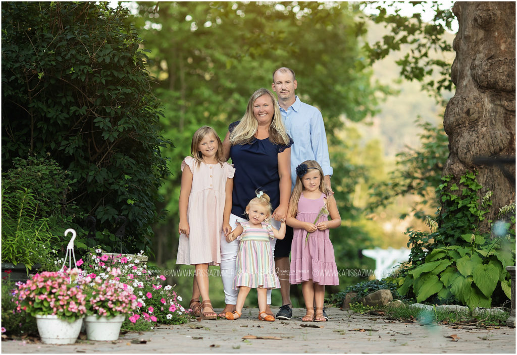
[[[332,175],[328,156],[327,136],[321,112],[300,101],[298,96],[287,110],[280,107],[287,134],[294,140],[291,147],[291,181],[296,183],[296,167],[305,160],[316,160],[324,175]]]

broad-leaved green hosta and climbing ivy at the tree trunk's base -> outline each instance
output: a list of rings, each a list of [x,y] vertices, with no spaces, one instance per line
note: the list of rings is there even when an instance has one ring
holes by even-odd
[[[480,233],[478,226],[491,194],[478,198],[482,186],[472,172],[462,175],[460,186],[453,184],[450,176],[442,180],[439,191],[443,207],[438,223],[429,223],[434,230],[431,234],[418,233],[425,236],[425,241],[412,246],[413,264],[399,292],[412,292],[418,302],[455,299],[471,310],[490,308],[510,297],[506,267],[515,262],[515,230],[511,230],[515,218],[503,222],[504,233],[494,238]]]

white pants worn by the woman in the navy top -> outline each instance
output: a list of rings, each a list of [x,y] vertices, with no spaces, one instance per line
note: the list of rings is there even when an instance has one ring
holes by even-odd
[[[235,223],[238,219],[244,219],[243,217],[237,217],[234,214],[230,215],[230,226],[232,231],[237,227]],[[280,228],[280,222],[271,219],[271,224],[276,229]],[[270,240],[271,250],[275,251],[275,244],[277,239]],[[237,253],[239,252],[239,241],[234,240],[231,243],[227,243],[224,233],[221,233],[221,279],[223,280],[224,288],[224,302],[226,304],[237,304],[237,295],[239,294],[238,289],[233,289],[233,280],[235,279],[235,269],[237,267]],[[267,291],[267,304],[271,304],[271,290]]]

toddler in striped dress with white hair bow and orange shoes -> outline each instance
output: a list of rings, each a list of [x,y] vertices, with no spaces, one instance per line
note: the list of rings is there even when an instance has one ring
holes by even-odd
[[[283,239],[285,222],[276,230],[269,222],[271,204],[269,196],[260,191],[246,206],[249,220],[237,221],[237,228],[226,236],[228,243],[240,240],[237,254],[237,273],[233,281],[234,288],[239,289],[235,312],[226,312],[226,319],[240,317],[244,301],[251,288],[257,289],[258,319],[273,321],[275,317],[266,314],[266,291],[280,288],[275,263],[271,252],[269,238]],[[264,316],[262,316],[264,314]]]

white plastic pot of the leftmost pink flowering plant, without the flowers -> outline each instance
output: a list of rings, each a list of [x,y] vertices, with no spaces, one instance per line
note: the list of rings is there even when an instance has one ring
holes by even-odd
[[[56,315],[37,315],[36,325],[43,344],[73,344],[81,332],[83,318],[72,322]]]

